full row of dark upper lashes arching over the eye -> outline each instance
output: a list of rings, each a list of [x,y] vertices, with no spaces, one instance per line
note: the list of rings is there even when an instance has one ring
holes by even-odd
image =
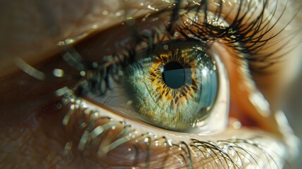
[[[282,27],[282,29],[279,30],[279,32],[277,32],[275,35],[264,38],[265,35],[268,35],[268,33],[272,32],[272,28],[275,27],[280,18],[282,18],[286,6],[283,9],[284,11],[279,15],[279,17],[273,24],[270,24],[270,22],[275,15],[277,6],[275,6],[274,10],[272,10],[271,17],[265,18],[264,13],[267,10],[265,7],[268,5],[268,0],[264,0],[263,6],[260,7],[261,12],[259,15],[257,15],[256,19],[251,20],[251,16],[247,15],[247,13],[250,11],[245,11],[245,13],[243,13],[242,10],[239,10],[234,20],[232,20],[232,23],[230,23],[228,27],[218,27],[210,25],[206,22],[203,22],[202,24],[194,22],[193,25],[198,28],[197,31],[194,32],[190,30],[189,27],[185,27],[184,25],[175,25],[175,22],[180,19],[179,11],[180,9],[185,9],[187,11],[195,11],[196,13],[199,13],[199,11],[203,10],[203,13],[207,15],[208,2],[202,1],[205,6],[188,5],[186,8],[180,8],[181,2],[182,1],[177,1],[178,4],[176,4],[174,8],[172,8],[170,24],[165,25],[164,35],[162,35],[162,30],[153,29],[151,30],[151,32],[149,32],[149,36],[146,36],[144,33],[138,32],[137,27],[134,26],[133,20],[128,20],[126,23],[128,27],[130,27],[132,39],[134,39],[135,44],[133,46],[126,46],[127,49],[125,49],[125,46],[122,46],[124,48],[122,51],[124,52],[122,54],[112,54],[111,57],[114,61],[111,61],[110,63],[108,63],[106,59],[103,59],[103,61],[101,61],[101,63],[96,68],[93,68],[91,66],[92,63],[86,64],[88,66],[86,66],[85,70],[92,72],[92,74],[94,75],[92,77],[87,77],[86,81],[78,85],[77,94],[79,96],[82,96],[89,92],[89,90],[92,90],[94,93],[99,95],[104,94],[108,89],[112,88],[111,77],[115,77],[118,71],[122,70],[128,64],[135,61],[137,52],[135,50],[136,46],[139,46],[139,44],[144,42],[148,44],[147,50],[151,51],[154,46],[156,46],[156,44],[163,42],[164,37],[172,39],[175,31],[180,32],[180,34],[188,40],[194,39],[192,39],[192,37],[189,37],[187,35],[187,32],[185,31],[189,31],[191,35],[193,35],[193,37],[203,39],[203,41],[205,42],[208,40],[215,41],[215,39],[225,39],[225,44],[232,47],[232,49],[234,49],[234,51],[236,52],[234,57],[247,60],[250,63],[265,63],[265,65],[261,64],[258,66],[250,66],[249,69],[253,73],[265,74],[266,72],[263,71],[265,70],[265,68],[268,68],[276,63],[278,61],[278,58],[282,57],[283,54],[286,54],[287,51],[290,50],[285,50],[282,54],[280,54],[280,56],[275,56],[277,51],[284,49],[284,47],[289,44],[287,42],[284,42],[285,45],[283,45],[282,48],[279,48],[278,50],[274,50],[270,53],[261,52],[261,49],[263,49],[263,47],[270,47],[270,44],[272,43],[268,42],[271,42],[272,39],[276,38],[277,35],[279,35],[289,23],[291,23],[291,20],[289,20],[289,23],[287,23],[287,25],[284,25],[284,27]],[[241,4],[238,8],[242,8],[242,6],[244,5],[245,4],[241,0]],[[222,8],[222,1],[220,1],[220,7],[215,11],[215,15],[218,16],[218,18],[222,17]],[[229,14],[227,14],[226,17],[228,17],[228,15]],[[246,19],[246,22],[242,23],[244,19]],[[117,79],[113,78],[113,80]]]

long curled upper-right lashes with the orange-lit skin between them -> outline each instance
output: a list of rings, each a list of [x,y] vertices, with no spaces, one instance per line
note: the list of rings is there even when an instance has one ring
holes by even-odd
[[[196,31],[189,32],[191,35],[193,35],[193,37],[199,37],[200,39],[203,39],[205,41],[223,39],[224,42],[222,43],[232,47],[232,49],[234,49],[234,51],[236,51],[237,53],[235,56],[237,56],[238,58],[243,58],[253,63],[262,63],[261,65],[250,66],[250,69],[251,71],[253,71],[253,73],[265,73],[265,71],[263,70],[270,68],[270,66],[277,63],[280,58],[282,58],[282,56],[294,49],[295,45],[289,46],[289,42],[291,42],[292,37],[294,37],[294,32],[288,37],[285,37],[285,39],[282,39],[284,43],[280,45],[280,48],[276,50],[273,49],[273,47],[281,42],[281,39],[278,39],[278,36],[294,20],[299,10],[294,12],[294,15],[292,15],[290,20],[282,25],[281,29],[277,30],[277,32],[273,32],[272,30],[276,27],[277,23],[279,23],[280,20],[282,20],[282,17],[284,17],[284,12],[288,8],[289,1],[287,1],[282,8],[282,12],[277,15],[279,2],[275,1],[274,4],[274,2],[270,3],[270,1],[268,0],[263,0],[262,4],[258,4],[258,6],[261,7],[260,14],[256,15],[256,18],[253,18],[255,16],[253,14],[258,10],[257,4],[252,4],[253,1],[246,1],[246,3],[248,4],[245,4],[243,0],[239,1],[237,15],[235,15],[234,20],[232,20],[229,26],[221,27],[213,25],[211,21],[208,20],[204,21],[203,23],[196,23],[194,22],[194,20],[191,20],[193,23],[191,26],[196,27]],[[222,17],[221,12],[223,10],[222,1],[219,1],[218,4],[219,7],[215,12],[217,20]],[[204,6],[199,6],[197,10],[204,8],[203,13],[204,15],[207,15],[207,5],[207,3],[204,3]],[[247,9],[242,10],[243,6],[247,6]],[[268,7],[272,9],[269,10]],[[233,9],[234,8],[232,8],[230,11],[232,11]],[[225,15],[225,18],[229,17],[229,13]],[[276,15],[277,18],[276,20],[274,20]],[[186,31],[184,32],[183,30]],[[189,30],[189,27],[187,27],[186,25],[178,27],[178,31],[181,32],[184,36],[187,36],[187,30]],[[296,30],[296,32],[297,31],[298,29]],[[191,36],[187,36],[187,39],[191,39]],[[272,42],[273,40],[274,42]],[[272,49],[272,51],[262,51],[265,48]],[[283,49],[286,50],[282,51]]]

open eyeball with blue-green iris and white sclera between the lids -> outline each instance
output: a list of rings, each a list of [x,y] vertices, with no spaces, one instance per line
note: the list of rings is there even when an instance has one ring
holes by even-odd
[[[183,10],[185,14],[175,21],[174,34],[170,36],[165,24],[167,13],[149,16],[144,22],[137,20],[133,25],[136,37],[117,35],[117,42],[122,44],[104,42],[118,46],[114,47],[118,51],[103,58],[109,58],[108,63],[89,63],[96,66],[86,73],[91,77],[80,84],[80,92],[86,90],[84,96],[127,118],[167,130],[199,134],[223,130],[227,126],[229,89],[221,56],[207,37],[187,37],[187,32],[195,29],[192,23],[201,22],[205,15]],[[158,21],[146,28],[154,18]],[[208,13],[208,20],[209,25],[214,24],[213,20],[217,26],[227,25],[213,13]],[[133,23],[118,26],[119,31],[124,32]],[[109,32],[99,38],[104,39]],[[87,58],[86,50],[92,48],[80,45],[75,49]],[[122,63],[125,58],[131,58],[132,63]],[[108,77],[103,75],[105,70]],[[104,89],[106,84],[108,89]]]

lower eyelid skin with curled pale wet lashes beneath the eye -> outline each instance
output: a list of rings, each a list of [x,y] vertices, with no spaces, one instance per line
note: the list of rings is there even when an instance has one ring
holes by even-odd
[[[102,112],[85,106],[85,102],[64,88],[62,104],[69,107],[63,118],[65,130],[71,140],[65,146],[66,154],[78,151],[89,163],[101,168],[279,168],[277,154],[269,154],[262,148],[261,137],[248,139],[176,143],[167,137],[146,132],[141,134],[125,121],[113,120]],[[102,123],[100,123],[100,121]],[[80,132],[79,132],[80,131]],[[111,139],[108,137],[110,134]],[[112,139],[114,138],[114,139]],[[106,144],[104,144],[106,142]],[[70,145],[73,145],[70,147]],[[161,153],[159,153],[161,150]],[[151,152],[152,149],[152,152]],[[118,156],[116,154],[127,154]],[[115,154],[115,155],[113,155]],[[92,158],[94,156],[94,158]],[[72,158],[68,156],[66,158]],[[75,157],[74,157],[75,158]],[[261,162],[259,161],[261,160]],[[112,164],[110,161],[122,161]]]

